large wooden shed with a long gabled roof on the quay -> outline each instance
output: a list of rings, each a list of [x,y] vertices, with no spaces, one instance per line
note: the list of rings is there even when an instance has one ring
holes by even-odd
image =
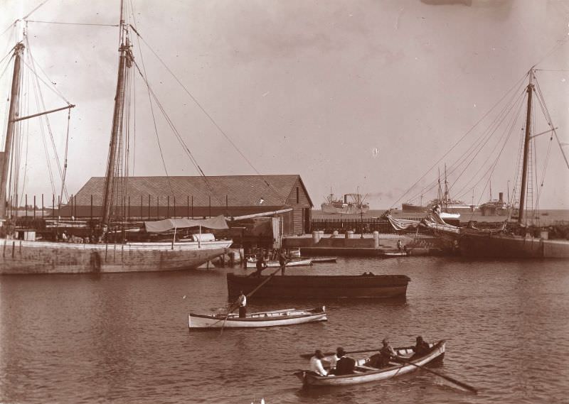
[[[237,217],[292,208],[281,214],[283,234],[309,231],[314,206],[300,175],[130,177],[115,187],[112,215],[132,220]],[[60,216],[100,217],[105,178],[92,177]]]

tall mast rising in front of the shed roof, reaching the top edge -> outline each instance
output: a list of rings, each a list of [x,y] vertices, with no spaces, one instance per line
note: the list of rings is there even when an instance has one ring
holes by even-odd
[[[109,158],[107,160],[107,173],[105,175],[105,189],[102,201],[102,225],[109,224],[112,208],[112,190],[115,182],[115,164],[117,162],[117,138],[119,131],[122,129],[122,119],[124,111],[124,77],[127,74],[127,68],[130,67],[131,57],[129,50],[129,38],[126,35],[127,26],[122,16],[122,1],[120,4],[120,24],[119,24],[119,72],[117,77],[117,92],[115,94],[115,111],[112,115],[112,130],[109,143]]]

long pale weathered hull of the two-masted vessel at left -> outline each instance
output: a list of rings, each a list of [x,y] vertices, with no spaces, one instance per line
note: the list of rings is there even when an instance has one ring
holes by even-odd
[[[0,274],[177,271],[220,256],[231,240],[71,244],[0,239]]]

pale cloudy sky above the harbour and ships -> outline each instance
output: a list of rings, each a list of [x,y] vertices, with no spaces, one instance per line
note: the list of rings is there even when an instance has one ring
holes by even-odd
[[[21,31],[11,23],[42,3],[0,0],[0,58]],[[516,83],[523,89],[533,65],[541,69],[536,77],[560,141],[569,143],[569,1],[132,0],[129,9],[144,39],[133,36],[135,60],[206,175],[299,174],[316,207],[331,191],[360,192],[372,209],[421,193],[432,199],[437,170],[462,158],[459,148],[445,153],[463,136],[474,143],[469,130]],[[110,0],[48,0],[28,16],[33,60],[77,106],[70,117],[70,194],[105,173],[118,28],[32,21],[118,20],[119,1]],[[10,71],[0,77],[3,128]],[[147,89],[136,80],[133,174],[198,175],[154,104],[156,136]],[[43,94],[46,109],[66,104],[47,87]],[[31,105],[31,113],[38,110]],[[537,122],[537,132],[547,129]],[[66,112],[51,114],[50,126],[63,158]],[[51,195],[46,160],[53,165],[53,155],[46,158],[41,132],[33,122],[29,127],[26,192]],[[513,192],[520,130],[501,153],[504,163],[486,178],[473,180],[474,164],[450,170],[451,196],[486,202],[490,184],[493,198],[508,186]],[[538,152],[547,153],[548,139],[536,139]],[[548,160],[536,159],[538,182],[547,161],[540,207],[569,209],[569,169],[555,139]],[[59,193],[60,181],[53,184]]]

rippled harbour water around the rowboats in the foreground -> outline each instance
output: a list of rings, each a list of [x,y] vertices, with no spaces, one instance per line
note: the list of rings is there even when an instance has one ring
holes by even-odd
[[[0,277],[1,403],[562,403],[569,397],[567,261],[344,259],[287,273],[402,273],[405,302],[326,302],[329,322],[188,332],[225,304],[223,269]],[[183,296],[186,295],[186,299]],[[255,302],[252,309],[320,302]],[[436,371],[303,391],[315,348],[447,339]]]

